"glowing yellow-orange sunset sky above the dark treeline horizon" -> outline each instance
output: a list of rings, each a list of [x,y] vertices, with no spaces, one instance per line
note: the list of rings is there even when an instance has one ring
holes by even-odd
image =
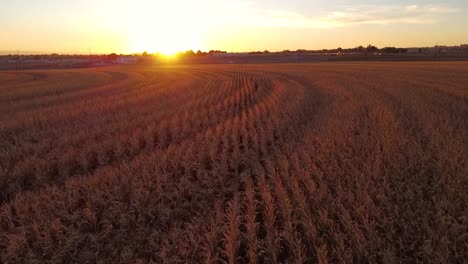
[[[0,1],[0,51],[170,53],[468,43],[467,0]]]

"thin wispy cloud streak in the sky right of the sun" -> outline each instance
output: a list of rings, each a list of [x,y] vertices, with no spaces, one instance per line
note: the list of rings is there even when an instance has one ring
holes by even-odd
[[[448,5],[363,5],[342,7],[324,14],[258,10],[249,2],[232,12],[230,22],[250,27],[333,28],[353,25],[436,24],[443,16],[461,11]]]

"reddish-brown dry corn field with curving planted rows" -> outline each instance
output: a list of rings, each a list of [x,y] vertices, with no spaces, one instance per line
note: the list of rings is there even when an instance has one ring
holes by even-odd
[[[2,263],[468,261],[468,63],[0,72]]]

